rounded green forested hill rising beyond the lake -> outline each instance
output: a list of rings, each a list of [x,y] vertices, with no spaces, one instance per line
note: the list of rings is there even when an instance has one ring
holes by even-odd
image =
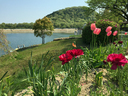
[[[47,15],[47,17],[51,18],[55,28],[81,28],[87,21],[95,20],[95,13],[86,18],[85,9],[82,7],[65,8]]]

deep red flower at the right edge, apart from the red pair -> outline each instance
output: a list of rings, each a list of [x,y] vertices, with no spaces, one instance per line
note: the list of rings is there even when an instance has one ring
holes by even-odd
[[[111,62],[112,70],[116,70],[117,66],[123,66],[128,63],[128,60],[122,54],[109,54],[107,57],[107,62]]]

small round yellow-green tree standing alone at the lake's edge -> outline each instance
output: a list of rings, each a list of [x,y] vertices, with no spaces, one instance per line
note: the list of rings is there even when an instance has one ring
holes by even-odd
[[[44,17],[35,21],[33,25],[34,35],[42,38],[42,44],[45,43],[45,35],[51,36],[54,30],[53,24],[50,18]]]

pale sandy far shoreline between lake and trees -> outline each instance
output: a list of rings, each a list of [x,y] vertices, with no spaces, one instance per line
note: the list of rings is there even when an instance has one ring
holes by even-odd
[[[74,33],[77,31],[77,29],[54,29],[53,33]],[[5,34],[7,33],[34,33],[34,30],[32,29],[3,29],[3,32]]]

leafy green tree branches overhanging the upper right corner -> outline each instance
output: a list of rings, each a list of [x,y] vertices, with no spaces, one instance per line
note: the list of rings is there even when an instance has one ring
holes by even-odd
[[[121,16],[128,21],[128,0],[87,0],[87,15],[96,10],[109,10],[116,17]]]

